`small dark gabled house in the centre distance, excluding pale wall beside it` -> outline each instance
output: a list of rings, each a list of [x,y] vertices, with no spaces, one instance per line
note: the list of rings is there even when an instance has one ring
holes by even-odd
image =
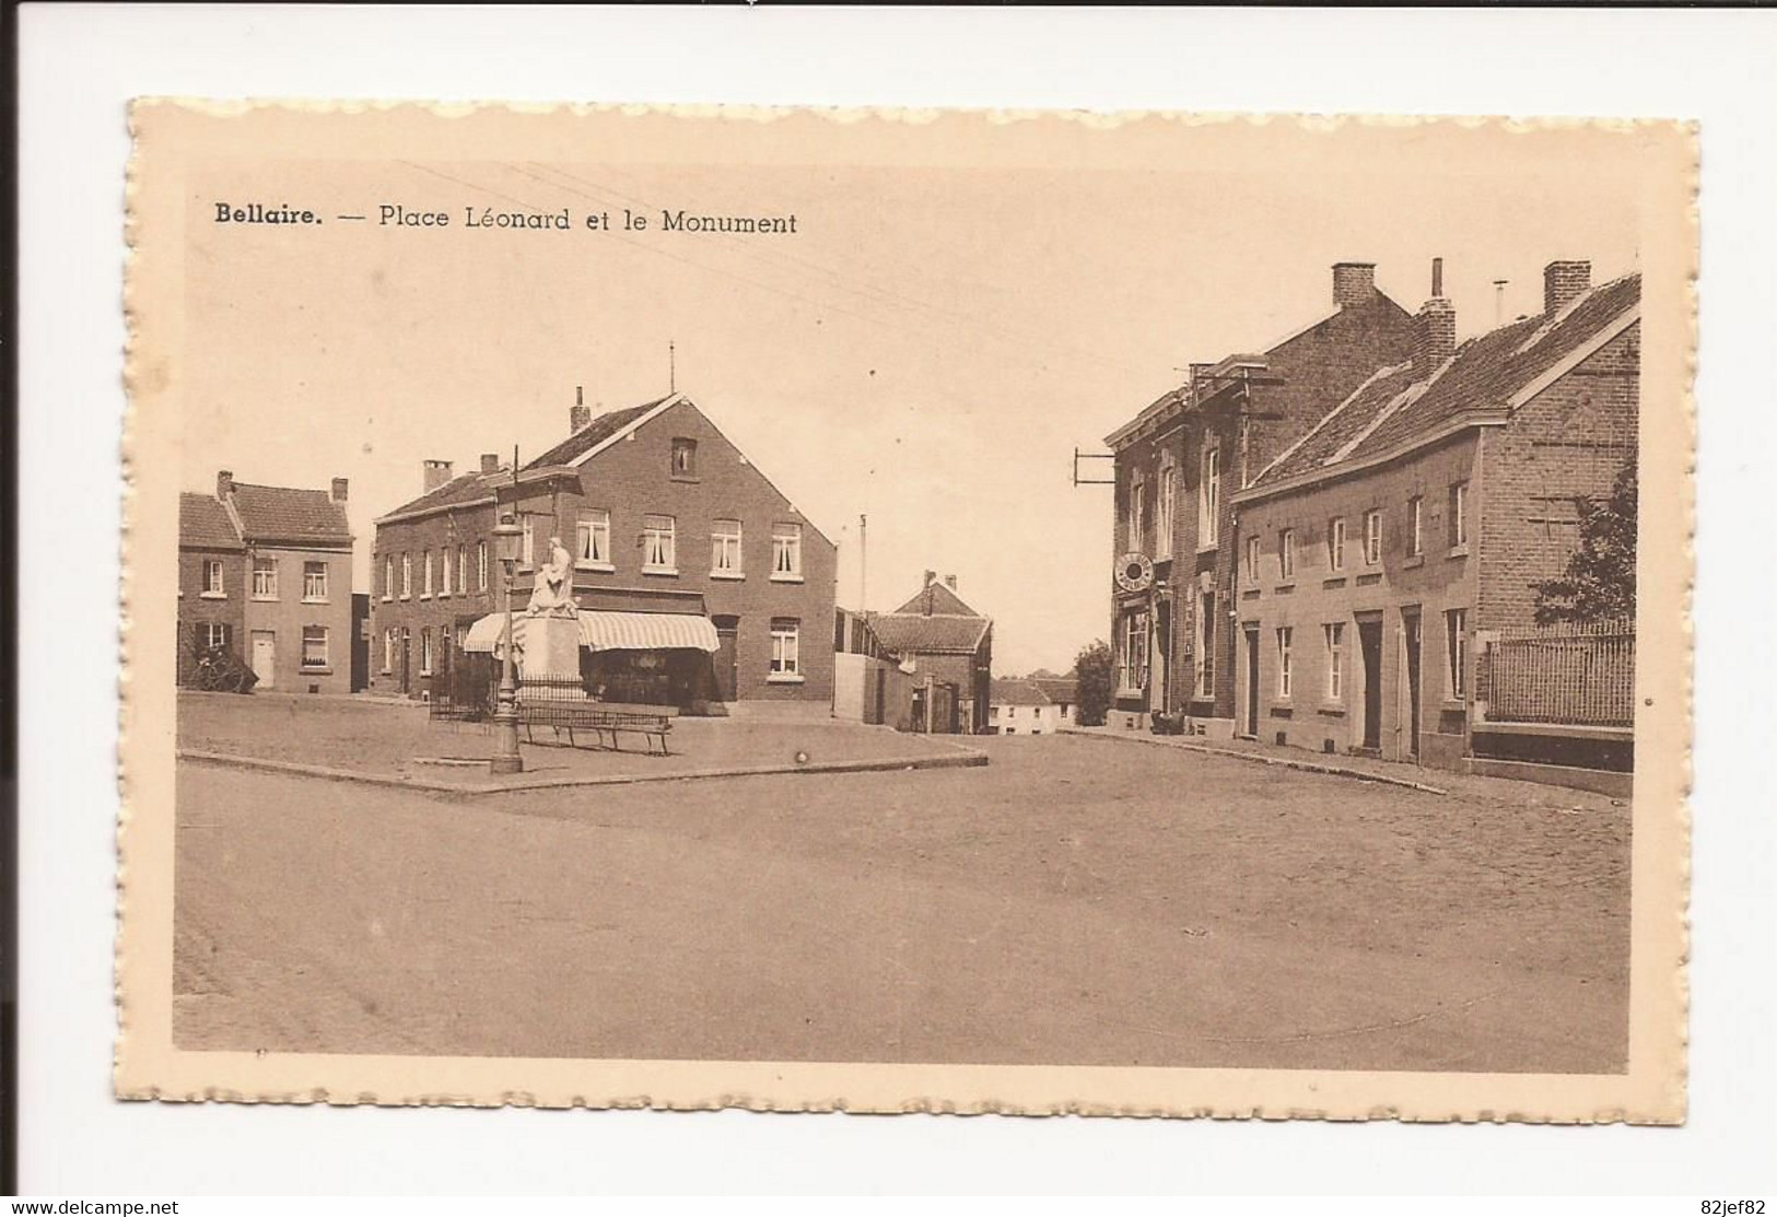
[[[935,570],[894,613],[871,613],[869,629],[881,652],[910,677],[906,705],[883,718],[903,730],[979,734],[988,727],[993,679],[993,618],[956,593],[956,576],[942,583]]]

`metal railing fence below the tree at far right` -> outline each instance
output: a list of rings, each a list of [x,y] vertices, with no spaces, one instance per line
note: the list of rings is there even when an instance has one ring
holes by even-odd
[[[1489,721],[1635,725],[1635,627],[1628,622],[1498,638],[1482,663]]]

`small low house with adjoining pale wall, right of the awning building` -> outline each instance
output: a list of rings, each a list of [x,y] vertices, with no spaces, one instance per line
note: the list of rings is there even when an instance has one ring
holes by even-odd
[[[894,613],[837,613],[837,718],[899,730],[979,734],[988,727],[993,618],[956,593],[956,576],[924,586]]]

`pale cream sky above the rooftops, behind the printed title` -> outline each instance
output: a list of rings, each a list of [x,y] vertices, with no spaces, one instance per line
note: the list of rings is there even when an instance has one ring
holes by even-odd
[[[1073,485],[1073,451],[1105,451],[1189,362],[1329,313],[1335,261],[1377,263],[1411,311],[1443,258],[1461,336],[1494,325],[1496,279],[1512,320],[1541,311],[1555,258],[1592,259],[1594,281],[1637,263],[1633,163],[1599,142],[1452,158],[1407,128],[1351,155],[1223,158],[1183,131],[1178,155],[1120,160],[1070,131],[1052,156],[979,163],[910,139],[908,163],[862,124],[851,155],[798,163],[769,131],[702,163],[586,140],[547,160],[199,165],[181,483],[348,478],[363,588],[371,521],[419,494],[423,460],[530,458],[567,434],[576,387],[620,409],[672,377],[839,544],[842,606],[892,609],[922,570],[954,574],[995,618],[997,673],[1059,672],[1111,615],[1111,489]],[[219,199],[370,219],[293,236],[217,224]],[[451,226],[382,226],[382,204]],[[661,233],[681,206],[798,231]],[[574,231],[466,227],[485,208],[567,208]],[[622,231],[624,208],[650,229]],[[594,211],[615,231],[585,231]]]

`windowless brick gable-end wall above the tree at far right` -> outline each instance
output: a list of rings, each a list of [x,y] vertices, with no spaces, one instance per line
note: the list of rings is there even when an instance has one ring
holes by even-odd
[[[1567,567],[1580,542],[1574,496],[1603,499],[1635,455],[1640,418],[1640,323],[1631,325],[1486,437],[1477,624],[1534,622],[1532,585]]]

